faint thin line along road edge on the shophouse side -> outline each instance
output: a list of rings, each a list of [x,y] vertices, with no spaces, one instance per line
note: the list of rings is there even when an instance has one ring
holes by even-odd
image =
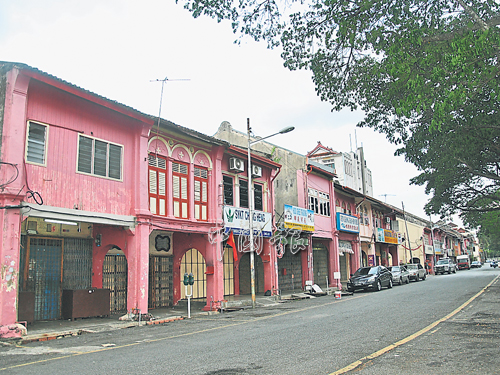
[[[96,350],[91,350],[91,351],[88,351],[88,352],[74,352],[72,354],[68,354],[68,355],[64,355],[64,356],[60,356],[60,357],[47,358],[47,359],[42,359],[42,360],[39,360],[39,361],[33,361],[33,362],[22,363],[22,364],[19,364],[19,365],[13,365],[13,366],[8,366],[8,367],[3,367],[3,368],[0,368],[0,371],[14,369],[14,368],[20,368],[20,367],[24,367],[24,366],[35,365],[35,364],[38,364],[38,363],[46,363],[46,362],[56,361],[56,360],[60,360],[60,359],[76,357],[76,356],[80,356],[80,355],[94,354],[94,353],[104,352],[106,350],[116,350],[116,349],[121,349],[121,348],[127,348],[127,347],[131,347],[131,346],[136,346],[136,345],[140,345],[140,344],[145,344],[145,343],[159,342],[159,341],[165,341],[165,340],[170,340],[170,339],[176,339],[176,338],[179,338],[179,337],[192,336],[192,335],[196,335],[196,334],[199,334],[199,333],[213,332],[213,331],[217,331],[217,330],[221,330],[221,329],[225,329],[225,328],[230,328],[230,327],[235,327],[235,326],[241,326],[241,325],[244,325],[244,324],[254,323],[254,322],[260,321],[260,320],[277,318],[277,317],[281,317],[281,316],[284,316],[284,315],[289,315],[289,314],[293,314],[293,313],[298,313],[298,312],[303,312],[303,311],[307,311],[307,310],[316,309],[318,307],[329,306],[329,305],[333,305],[334,303],[342,303],[342,302],[350,301],[350,300],[353,300],[353,299],[364,298],[365,296],[366,295],[359,295],[359,296],[355,296],[355,297],[353,296],[353,297],[351,297],[351,298],[349,298],[347,300],[334,300],[334,301],[323,303],[323,304],[320,304],[320,305],[307,306],[307,307],[303,307],[303,308],[300,308],[300,309],[283,311],[283,312],[280,312],[280,313],[276,313],[276,314],[272,314],[272,315],[266,315],[266,316],[261,316],[261,317],[258,317],[258,318],[253,318],[253,319],[248,319],[248,320],[239,320],[238,322],[234,322],[234,323],[231,323],[231,324],[226,324],[226,325],[223,325],[223,326],[220,326],[220,327],[207,328],[207,329],[202,329],[202,330],[193,331],[193,332],[186,332],[186,333],[181,333],[181,334],[178,334],[178,335],[161,337],[161,338],[158,338],[158,339],[142,340],[142,341],[139,341],[139,342],[133,342],[133,343],[130,343],[130,344],[125,344],[125,345],[119,345],[119,346],[113,346],[113,347],[108,347],[108,348],[96,349]],[[17,347],[22,348],[24,346],[18,345]]]

